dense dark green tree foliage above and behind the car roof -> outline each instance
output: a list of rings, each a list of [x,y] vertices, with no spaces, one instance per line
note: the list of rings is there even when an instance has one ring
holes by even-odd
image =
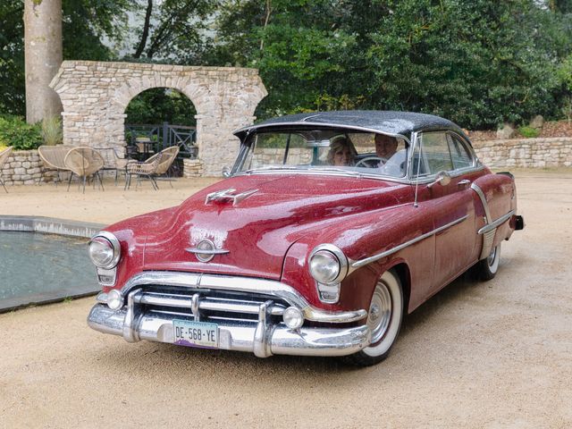
[[[562,4],[227,2],[215,53],[260,69],[269,90],[261,118],[323,108],[322,95],[345,94],[363,97],[366,108],[441,114],[478,129],[559,114],[556,69],[572,46]]]

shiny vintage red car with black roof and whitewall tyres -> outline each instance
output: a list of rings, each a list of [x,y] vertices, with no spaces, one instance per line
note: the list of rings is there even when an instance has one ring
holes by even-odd
[[[524,227],[513,176],[437,116],[296,114],[235,134],[226,180],[92,238],[89,326],[373,365],[403,315],[471,267],[491,279]]]

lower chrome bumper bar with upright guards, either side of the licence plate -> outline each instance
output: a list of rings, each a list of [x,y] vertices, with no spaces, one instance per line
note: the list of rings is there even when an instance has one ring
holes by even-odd
[[[133,314],[123,307],[112,310],[104,304],[94,306],[88,315],[91,328],[121,335],[126,341],[174,342],[173,319],[179,315],[164,313]],[[189,317],[189,320],[193,320]],[[346,356],[370,343],[366,325],[350,328],[302,327],[290,330],[284,324],[270,324],[264,315],[257,323],[226,320],[217,323],[219,349],[248,351],[257,357],[272,355]]]

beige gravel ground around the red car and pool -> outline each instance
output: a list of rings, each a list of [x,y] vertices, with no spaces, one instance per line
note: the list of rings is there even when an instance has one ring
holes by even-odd
[[[0,214],[112,222],[207,182],[22,187],[0,192]],[[572,171],[517,186],[526,229],[497,277],[442,290],[378,366],[129,344],[90,330],[94,300],[79,299],[0,315],[0,427],[572,427]]]

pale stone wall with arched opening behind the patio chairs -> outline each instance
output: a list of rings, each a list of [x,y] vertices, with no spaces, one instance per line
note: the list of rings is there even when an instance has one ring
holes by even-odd
[[[198,157],[208,176],[221,174],[239,148],[232,130],[252,123],[267,95],[258,71],[237,67],[64,61],[50,84],[63,105],[63,142],[125,145],[125,109],[150,88],[181,91],[197,109]]]

